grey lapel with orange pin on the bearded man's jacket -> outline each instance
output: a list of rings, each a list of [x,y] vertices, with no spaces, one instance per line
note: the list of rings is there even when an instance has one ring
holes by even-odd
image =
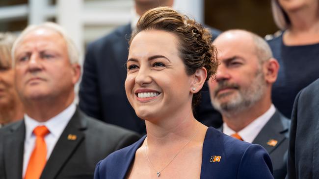
[[[283,140],[288,138],[289,124],[289,119],[276,110],[252,143],[263,146],[268,154],[271,154]],[[277,141],[277,144],[274,146],[267,144],[271,140]]]

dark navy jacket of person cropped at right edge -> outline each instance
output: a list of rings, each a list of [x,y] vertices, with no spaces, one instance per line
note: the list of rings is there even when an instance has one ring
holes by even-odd
[[[292,109],[289,179],[319,179],[319,79],[301,90]]]

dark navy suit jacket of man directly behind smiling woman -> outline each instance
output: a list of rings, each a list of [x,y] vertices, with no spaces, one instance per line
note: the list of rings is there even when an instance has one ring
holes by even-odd
[[[220,32],[212,29],[213,39]],[[88,45],[80,84],[80,109],[94,118],[145,134],[144,121],[138,118],[125,93],[126,61],[131,24]],[[202,102],[195,117],[207,126],[219,127],[221,116],[210,101],[207,85],[202,89]]]

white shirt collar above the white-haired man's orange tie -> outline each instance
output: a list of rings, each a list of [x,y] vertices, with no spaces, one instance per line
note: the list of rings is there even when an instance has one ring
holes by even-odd
[[[50,131],[54,137],[59,137],[62,134],[64,128],[69,123],[70,119],[74,115],[77,107],[75,103],[72,103],[68,106],[65,110],[57,114],[56,116],[52,117],[46,122],[38,122],[35,119],[32,119],[27,114],[24,115],[25,117],[25,124],[26,124],[26,138],[30,138],[32,136],[32,132],[34,128],[40,125],[44,125]]]

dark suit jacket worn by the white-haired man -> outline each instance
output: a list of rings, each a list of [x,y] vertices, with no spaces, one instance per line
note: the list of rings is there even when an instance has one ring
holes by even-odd
[[[24,120],[0,129],[0,179],[22,178],[25,133]],[[68,139],[69,134],[76,139]],[[41,179],[92,179],[98,161],[138,139],[133,132],[77,110],[55,144]]]

